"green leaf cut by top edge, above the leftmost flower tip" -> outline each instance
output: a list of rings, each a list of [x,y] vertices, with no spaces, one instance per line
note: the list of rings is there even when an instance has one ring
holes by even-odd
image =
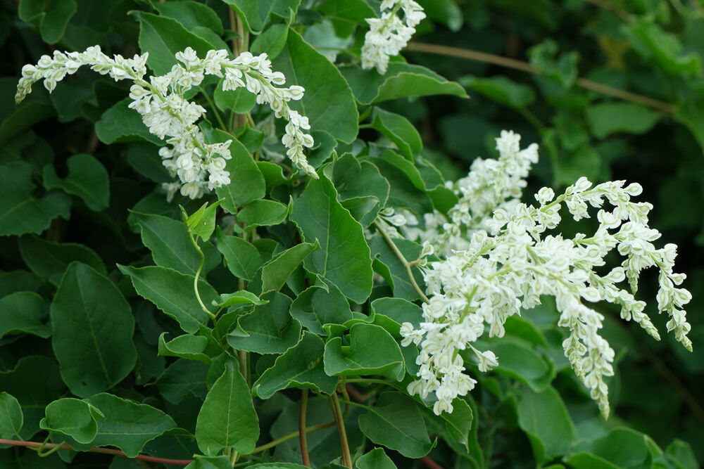
[[[23,21],[39,27],[42,41],[56,44],[77,8],[75,0],[22,0],[17,13]]]

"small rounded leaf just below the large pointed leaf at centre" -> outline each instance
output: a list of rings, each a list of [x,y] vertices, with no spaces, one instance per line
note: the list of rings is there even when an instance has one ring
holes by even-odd
[[[312,286],[298,295],[291,304],[291,316],[310,332],[327,335],[322,326],[349,321],[352,311],[337,285],[326,282],[325,286]]]

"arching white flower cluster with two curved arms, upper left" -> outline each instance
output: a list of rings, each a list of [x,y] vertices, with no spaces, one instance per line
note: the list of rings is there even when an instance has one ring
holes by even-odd
[[[206,58],[199,59],[196,52],[188,47],[176,53],[180,64],[162,76],[146,74],[146,60],[149,54],[134,58],[115,56],[109,58],[99,46],[92,46],[84,52],[54,51],[54,57],[42,56],[37,65],[25,65],[22,78],[17,86],[15,101],[19,103],[32,91],[32,84],[44,79],[44,86],[50,92],[56,82],[67,74],[75,73],[82,65],[90,65],[101,75],[109,75],[115,81],[130,79],[130,108],[142,115],[151,134],[168,143],[159,150],[163,164],[172,176],[180,182],[164,184],[171,198],[175,191],[190,198],[199,198],[206,191],[230,184],[230,173],[225,170],[229,160],[231,140],[225,143],[205,143],[203,133],[196,122],[206,113],[206,109],[184,98],[184,94],[203,82],[205,75],[224,77],[222,89],[234,90],[244,87],[253,94],[259,104],[268,104],[276,117],[288,121],[282,143],[288,148],[287,155],[296,166],[317,178],[315,169],[308,165],[303,147],[313,146],[313,137],[303,132],[310,129],[308,118],[289,108],[289,101],[303,97],[301,86],[282,88],[285,77],[281,72],[273,72],[266,54],[253,56],[241,53],[234,60],[227,57],[227,51],[208,51]],[[223,74],[224,70],[224,74]]]

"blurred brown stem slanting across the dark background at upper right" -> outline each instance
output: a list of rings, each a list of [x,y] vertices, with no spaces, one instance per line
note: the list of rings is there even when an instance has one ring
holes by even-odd
[[[513,68],[515,70],[522,70],[523,72],[543,75],[541,70],[527,62],[516,60],[514,58],[496,56],[493,53],[472,51],[470,49],[461,49],[459,47],[439,46],[437,44],[425,44],[422,42],[411,42],[408,44],[406,49],[409,51],[434,53],[440,56],[478,60],[479,62],[493,63],[494,65],[499,65],[505,68]],[[584,89],[596,91],[597,93],[619,98],[624,101],[631,101],[632,103],[648,106],[649,108],[659,110],[661,113],[674,114],[677,110],[677,106],[674,104],[666,103],[665,101],[660,101],[655,98],[650,98],[649,96],[631,93],[630,91],[624,91],[622,89],[614,88],[613,86],[593,82],[589,79],[577,78],[576,83]]]

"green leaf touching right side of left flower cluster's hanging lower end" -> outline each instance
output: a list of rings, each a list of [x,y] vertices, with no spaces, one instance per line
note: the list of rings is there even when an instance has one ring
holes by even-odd
[[[219,141],[227,139],[222,134]],[[232,136],[229,136],[232,139]],[[222,208],[230,213],[237,213],[237,209],[252,200],[263,198],[266,193],[264,176],[262,176],[256,162],[246,148],[237,140],[232,140],[230,145],[232,158],[227,160],[225,170],[230,172],[230,184],[215,189],[218,198],[222,201]]]

